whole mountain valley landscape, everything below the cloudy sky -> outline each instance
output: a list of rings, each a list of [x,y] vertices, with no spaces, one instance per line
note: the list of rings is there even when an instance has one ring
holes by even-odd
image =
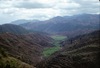
[[[0,68],[100,68],[99,17],[82,14],[0,25]]]

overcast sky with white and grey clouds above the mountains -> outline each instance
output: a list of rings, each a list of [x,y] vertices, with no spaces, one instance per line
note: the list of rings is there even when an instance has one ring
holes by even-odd
[[[18,19],[46,20],[55,16],[99,14],[99,0],[0,0],[0,24]]]

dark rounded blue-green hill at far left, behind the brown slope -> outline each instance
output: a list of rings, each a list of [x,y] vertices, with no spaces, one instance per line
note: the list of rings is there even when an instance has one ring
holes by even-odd
[[[29,31],[19,25],[4,24],[0,25],[0,33],[27,34]]]

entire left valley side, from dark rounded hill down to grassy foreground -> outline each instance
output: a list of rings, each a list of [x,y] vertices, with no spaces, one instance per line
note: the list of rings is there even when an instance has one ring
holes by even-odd
[[[34,68],[52,41],[43,32],[30,33],[19,25],[0,25],[0,68]]]

